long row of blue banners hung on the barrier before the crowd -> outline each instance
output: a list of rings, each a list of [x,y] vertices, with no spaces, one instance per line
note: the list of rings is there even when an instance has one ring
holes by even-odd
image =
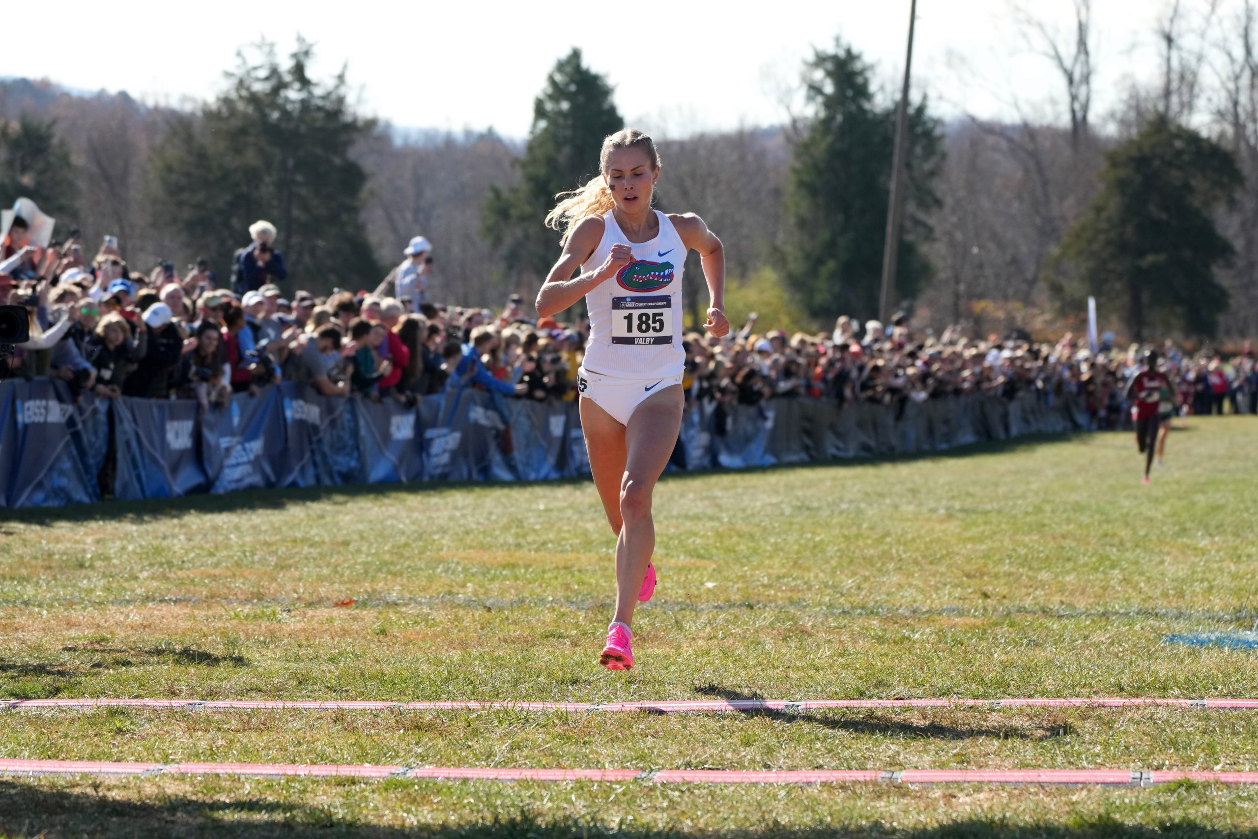
[[[507,445],[509,426],[512,445]],[[1073,396],[922,403],[788,397],[692,404],[671,469],[754,468],[940,452],[1089,426]],[[201,413],[195,401],[77,401],[64,382],[0,384],[0,507],[170,498],[267,487],[587,475],[575,401],[448,390],[406,408],[284,382]]]

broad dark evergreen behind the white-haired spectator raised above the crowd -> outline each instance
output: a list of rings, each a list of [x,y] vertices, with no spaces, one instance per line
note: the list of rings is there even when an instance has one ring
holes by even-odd
[[[225,243],[248,244],[249,225],[279,229],[291,282],[311,291],[375,286],[380,268],[359,219],[366,175],[351,150],[374,127],[347,102],[345,70],[307,74],[299,42],[287,67],[263,44],[242,54],[228,89],[176,119],[153,151],[160,220],[226,275]]]

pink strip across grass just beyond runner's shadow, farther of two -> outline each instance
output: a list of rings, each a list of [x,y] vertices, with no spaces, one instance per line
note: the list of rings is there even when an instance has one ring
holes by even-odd
[[[159,711],[560,711],[702,713],[776,711],[799,713],[825,708],[1171,708],[1258,709],[1258,699],[678,699],[672,702],[357,702],[283,699],[0,699],[0,709],[152,708]]]

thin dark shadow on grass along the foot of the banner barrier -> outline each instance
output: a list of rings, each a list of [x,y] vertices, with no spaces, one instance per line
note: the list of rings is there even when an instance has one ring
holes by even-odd
[[[752,467],[747,469],[691,469],[687,472],[665,472],[663,481],[684,481],[713,474],[760,474],[774,472],[798,472],[804,469],[833,469],[842,467],[868,467],[883,463],[905,463],[933,458],[970,458],[977,455],[1005,454],[1018,449],[1033,448],[1048,443],[1068,443],[1092,436],[1088,431],[1067,431],[1062,434],[1028,434],[1008,440],[988,440],[971,445],[960,445],[940,452],[917,452],[913,454],[887,454],[834,460],[811,460],[808,463],[789,463],[772,467]],[[532,489],[536,487],[572,486],[589,483],[590,478],[561,478],[559,481],[416,481],[406,484],[345,484],[340,487],[307,487],[288,489],[245,489],[240,492],[215,494],[184,496],[182,498],[148,498],[145,501],[104,501],[92,504],[68,504],[65,507],[35,507],[26,509],[6,509],[5,518],[26,525],[55,525],[59,522],[96,522],[102,520],[143,523],[162,518],[177,518],[192,513],[234,513],[259,509],[284,509],[291,504],[308,504],[318,501],[370,498],[399,492],[452,492],[469,487],[499,487]],[[0,531],[11,535],[11,531]]]

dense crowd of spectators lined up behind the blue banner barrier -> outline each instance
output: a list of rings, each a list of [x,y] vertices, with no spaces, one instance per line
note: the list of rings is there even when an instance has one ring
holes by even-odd
[[[249,234],[220,287],[205,260],[182,277],[169,262],[140,273],[112,236],[91,259],[74,239],[36,248],[15,219],[0,254],[0,304],[26,308],[31,337],[0,365],[9,375],[60,379],[74,394],[195,399],[203,410],[281,380],[406,404],[450,387],[576,397],[589,323],[530,317],[518,294],[502,311],[438,302],[428,239],[413,239],[374,291],[287,298],[281,283],[293,283],[276,228],[258,221]],[[1140,352],[1112,343],[1106,336],[1093,351],[1071,335],[1045,343],[956,328],[935,336],[902,316],[887,325],[840,317],[833,332],[789,336],[760,332],[751,316],[723,338],[687,333],[683,386],[687,399],[712,400],[718,410],[799,396],[903,404],[971,392],[1073,394],[1094,428],[1118,429],[1130,421],[1123,390]],[[1230,357],[1189,353],[1170,341],[1159,350],[1181,413],[1258,413],[1248,343]]]

